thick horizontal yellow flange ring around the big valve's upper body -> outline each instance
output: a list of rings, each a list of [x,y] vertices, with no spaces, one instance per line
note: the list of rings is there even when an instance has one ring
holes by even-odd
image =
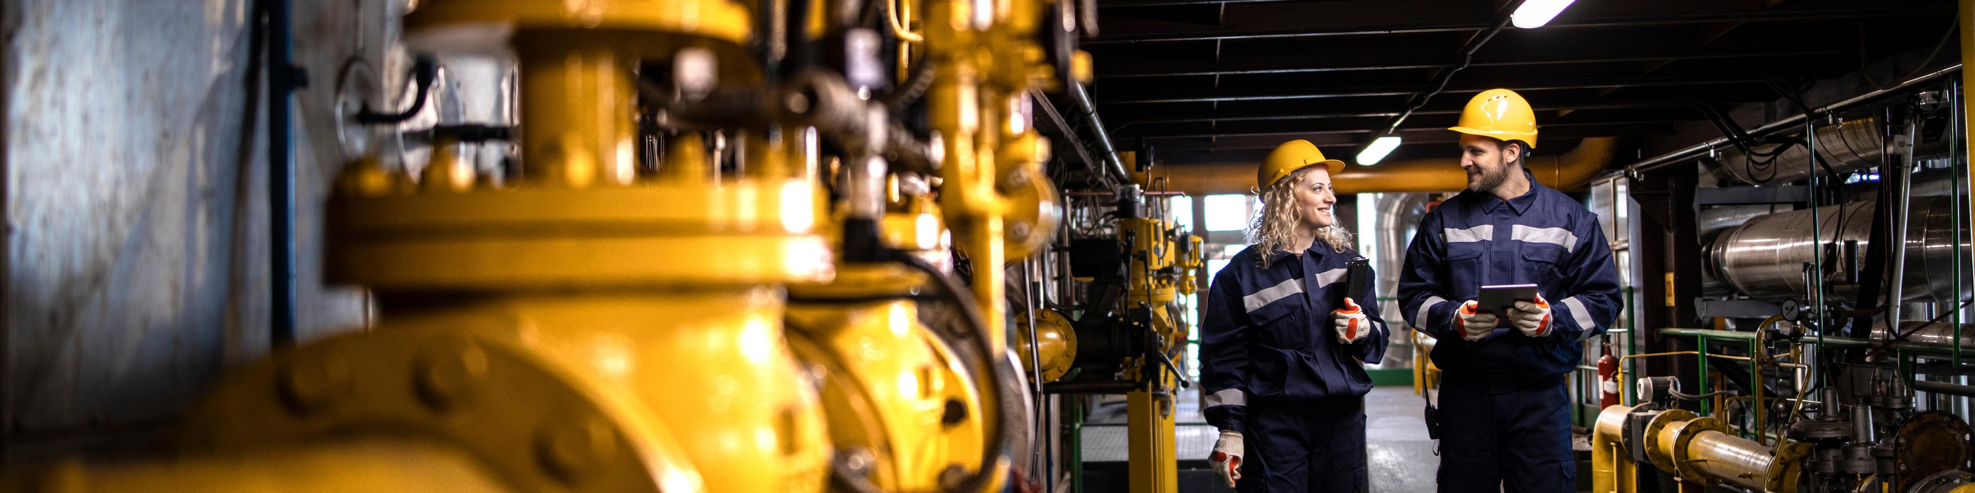
[[[826,282],[818,199],[806,179],[338,195],[324,274],[379,292]]]

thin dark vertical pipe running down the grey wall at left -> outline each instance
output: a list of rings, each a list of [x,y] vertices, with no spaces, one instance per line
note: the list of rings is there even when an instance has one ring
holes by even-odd
[[[269,205],[269,329],[273,347],[294,345],[294,32],[288,0],[267,2],[267,205]]]

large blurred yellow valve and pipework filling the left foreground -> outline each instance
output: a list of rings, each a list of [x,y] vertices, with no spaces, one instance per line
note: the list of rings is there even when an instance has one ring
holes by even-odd
[[[1088,61],[1045,53],[1051,2],[889,6],[918,55],[901,69],[930,67],[928,146],[855,77],[776,67],[788,45],[873,39],[835,4],[419,2],[405,32],[515,53],[517,177],[476,176],[444,132],[417,179],[354,162],[324,262],[375,290],[375,329],[231,375],[170,461],[0,485],[999,491],[1031,428],[999,266],[1059,209],[1023,108]],[[922,321],[918,292],[962,321]]]

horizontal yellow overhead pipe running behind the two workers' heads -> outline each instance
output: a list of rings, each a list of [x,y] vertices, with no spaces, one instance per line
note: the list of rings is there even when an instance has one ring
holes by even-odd
[[[1616,138],[1586,138],[1576,150],[1562,156],[1535,156],[1525,168],[1537,181],[1554,189],[1584,187],[1598,172],[1612,164],[1618,148]],[[1191,195],[1248,193],[1254,187],[1252,162],[1211,164],[1211,166],[1167,166],[1161,168],[1169,189]],[[1377,166],[1347,166],[1331,177],[1337,193],[1371,191],[1462,191],[1467,187],[1467,174],[1462,172],[1448,146],[1448,158],[1381,162]]]

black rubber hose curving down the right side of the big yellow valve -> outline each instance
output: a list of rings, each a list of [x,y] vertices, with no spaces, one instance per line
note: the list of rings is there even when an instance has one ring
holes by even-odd
[[[1017,416],[1027,412],[1021,410],[1021,404],[1017,404],[1019,402],[1017,396],[1009,394],[1007,388],[999,388],[999,385],[1007,381],[1019,381],[1021,377],[1015,373],[1015,369],[1011,369],[1011,363],[1005,355],[993,353],[993,339],[991,339],[993,335],[988,333],[988,317],[982,316],[980,306],[974,306],[974,294],[966,286],[962,286],[952,276],[946,276],[946,272],[940,272],[940,268],[928,264],[926,260],[920,260],[918,256],[895,252],[893,258],[899,260],[901,264],[907,264],[930,276],[934,284],[940,286],[940,294],[946,296],[946,302],[958,308],[968,325],[974,327],[976,335],[974,343],[980,345],[982,367],[988,369],[988,381],[982,383],[982,388],[993,388],[991,390],[993,400],[995,404],[1001,406],[1001,410],[997,412],[999,414],[997,418],[1001,422],[993,428],[993,434],[988,438],[988,444],[991,446],[984,448],[982,452],[980,471],[974,471],[974,475],[962,479],[954,487],[954,491],[960,493],[984,491],[993,481],[991,475],[995,469],[1013,463],[1009,452],[1015,448],[1015,434],[1011,434],[1011,430],[1023,426],[1021,422],[1017,422]],[[944,331],[932,331],[932,333],[938,333],[942,339],[950,337]]]

